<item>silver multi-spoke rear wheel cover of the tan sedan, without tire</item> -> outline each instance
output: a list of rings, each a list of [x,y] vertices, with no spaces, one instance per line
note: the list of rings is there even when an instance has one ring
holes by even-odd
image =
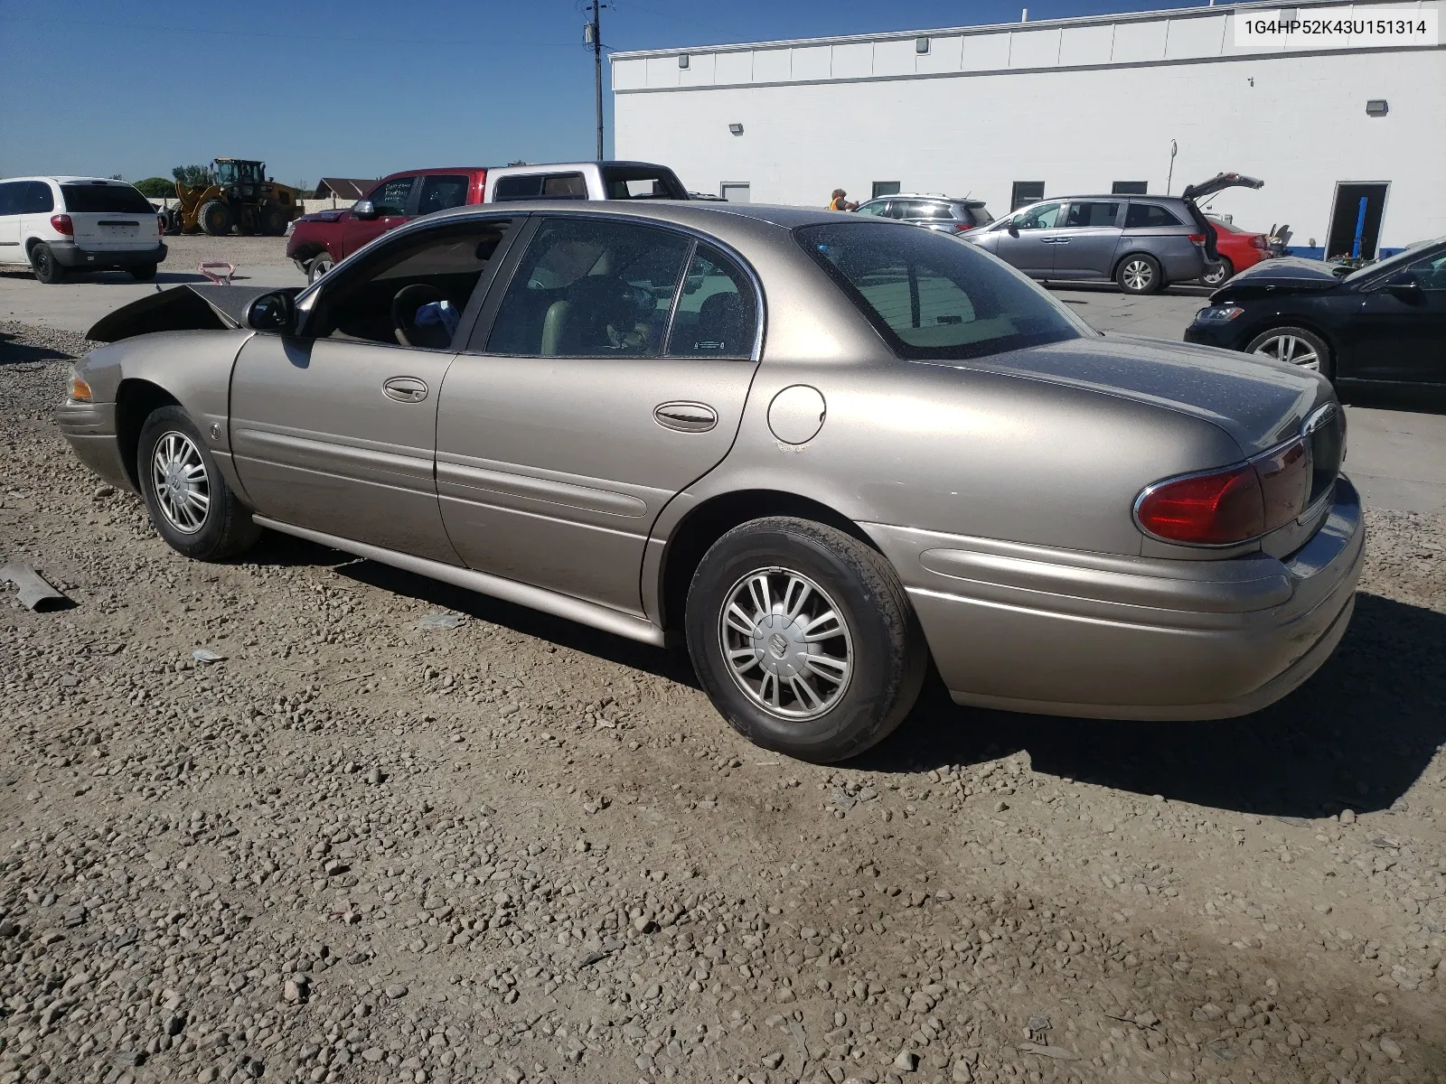
[[[761,568],[724,595],[719,646],[743,694],[790,723],[831,710],[853,678],[853,639],[818,584],[787,568]]]

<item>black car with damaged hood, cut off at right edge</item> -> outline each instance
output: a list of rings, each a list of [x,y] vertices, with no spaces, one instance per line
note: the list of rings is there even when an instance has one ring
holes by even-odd
[[[1268,354],[1343,384],[1446,383],[1446,237],[1359,270],[1265,260],[1210,295],[1187,343]]]

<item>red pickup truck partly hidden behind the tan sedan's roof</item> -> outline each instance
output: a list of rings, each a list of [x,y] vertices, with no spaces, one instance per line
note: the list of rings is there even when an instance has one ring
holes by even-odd
[[[480,204],[486,188],[487,171],[482,166],[409,169],[383,176],[353,207],[317,211],[292,223],[286,256],[308,282],[315,282],[363,244],[402,223],[448,207]]]

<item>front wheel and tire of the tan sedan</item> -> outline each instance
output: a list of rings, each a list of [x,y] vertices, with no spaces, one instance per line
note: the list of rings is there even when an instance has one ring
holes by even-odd
[[[156,533],[178,554],[224,561],[260,535],[179,406],[162,406],[140,426],[136,474]]]

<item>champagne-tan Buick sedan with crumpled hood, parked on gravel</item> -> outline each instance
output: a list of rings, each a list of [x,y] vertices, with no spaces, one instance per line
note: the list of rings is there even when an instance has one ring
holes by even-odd
[[[652,645],[808,760],[960,704],[1235,715],[1345,633],[1314,373],[1102,335],[988,253],[791,208],[509,204],[305,289],[107,317],[62,431],[201,561],[265,529]]]

